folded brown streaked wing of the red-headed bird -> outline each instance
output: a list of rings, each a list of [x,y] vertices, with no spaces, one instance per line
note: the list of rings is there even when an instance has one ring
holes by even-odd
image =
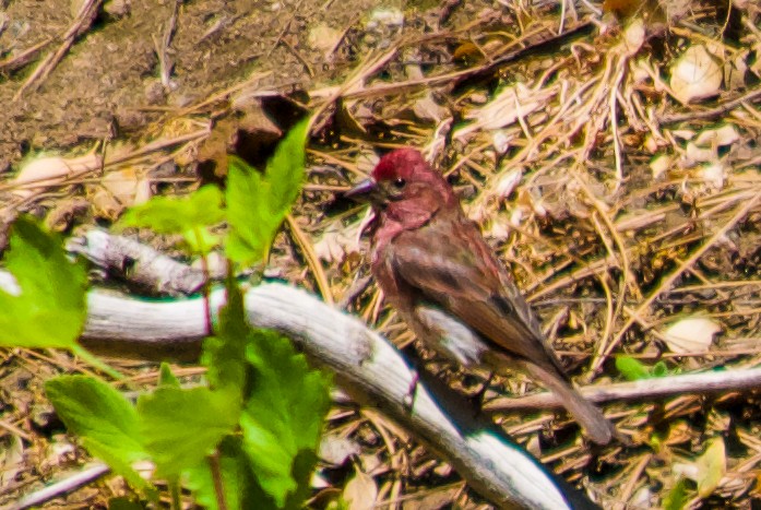
[[[437,221],[394,238],[385,253],[406,285],[510,356],[562,373],[538,322],[475,224]]]

